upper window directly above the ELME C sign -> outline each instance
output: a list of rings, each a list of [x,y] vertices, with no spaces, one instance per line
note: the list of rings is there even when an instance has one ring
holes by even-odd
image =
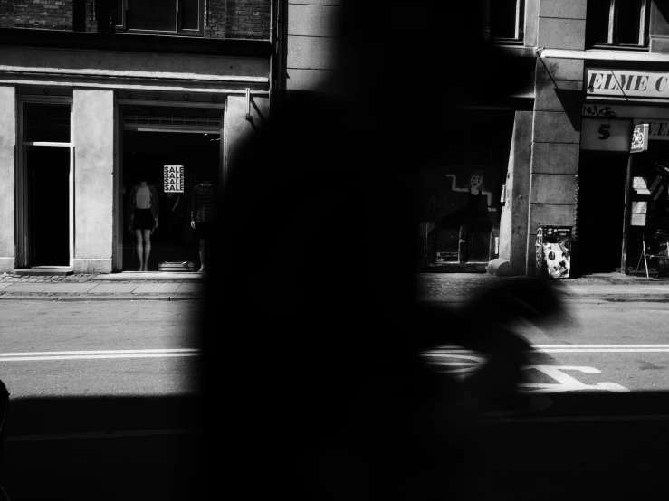
[[[588,0],[588,47],[648,47],[648,0]]]

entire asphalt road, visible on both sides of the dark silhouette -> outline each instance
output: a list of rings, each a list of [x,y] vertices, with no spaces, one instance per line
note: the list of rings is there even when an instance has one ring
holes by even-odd
[[[669,307],[567,309],[550,326],[517,326],[536,348],[521,384],[532,398],[480,416],[469,473],[455,480],[468,498],[636,498],[664,487]],[[0,303],[8,494],[197,498],[197,311],[189,301]],[[484,363],[457,346],[432,355],[464,376]]]

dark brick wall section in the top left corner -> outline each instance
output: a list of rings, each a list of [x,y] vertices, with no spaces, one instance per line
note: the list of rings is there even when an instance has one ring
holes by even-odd
[[[5,28],[72,30],[73,0],[2,0]]]

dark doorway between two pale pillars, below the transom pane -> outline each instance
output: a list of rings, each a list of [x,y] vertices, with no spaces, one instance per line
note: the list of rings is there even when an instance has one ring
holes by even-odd
[[[30,266],[70,264],[70,148],[26,147]]]

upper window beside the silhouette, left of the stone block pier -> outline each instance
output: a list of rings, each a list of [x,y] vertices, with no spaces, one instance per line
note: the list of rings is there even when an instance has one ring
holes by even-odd
[[[524,0],[483,0],[483,37],[498,43],[521,43]]]

